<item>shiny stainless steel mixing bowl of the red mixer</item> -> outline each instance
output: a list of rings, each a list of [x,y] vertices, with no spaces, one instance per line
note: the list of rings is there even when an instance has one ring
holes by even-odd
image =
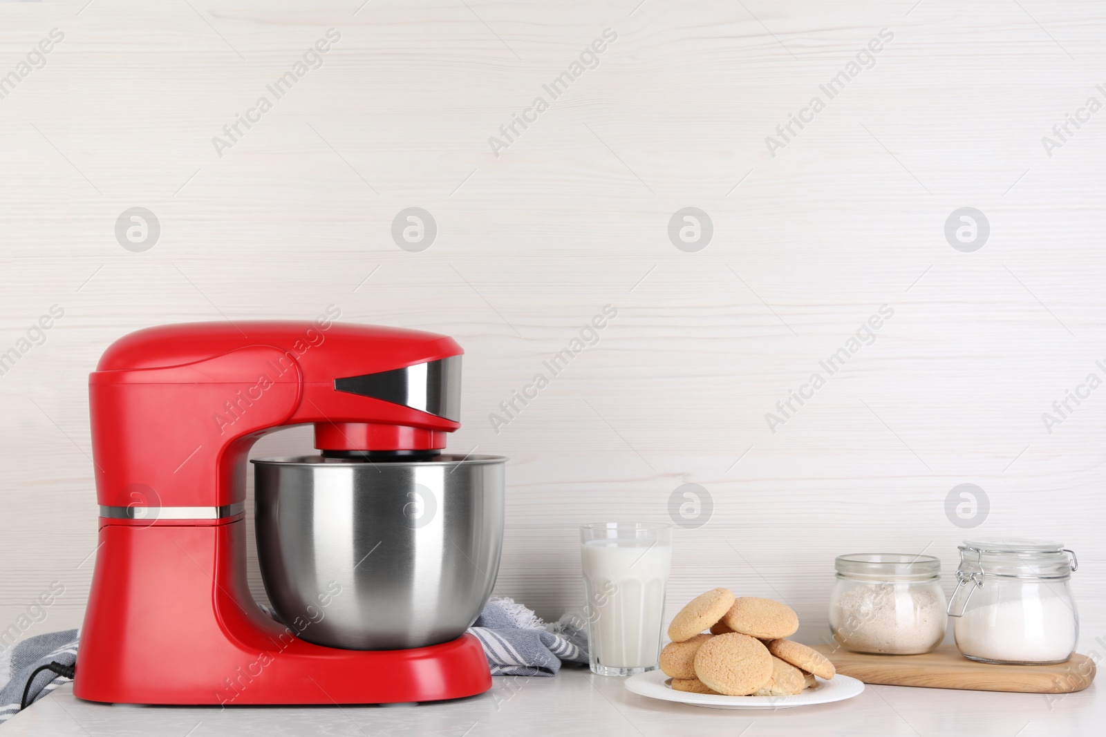
[[[499,570],[505,461],[254,460],[258,561],[278,615],[347,650],[461,636]]]

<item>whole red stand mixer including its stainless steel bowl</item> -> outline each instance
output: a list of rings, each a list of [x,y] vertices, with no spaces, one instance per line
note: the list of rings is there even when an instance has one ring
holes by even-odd
[[[74,694],[136,704],[422,702],[491,687],[465,630],[502,545],[499,456],[440,453],[459,423],[451,338],[315,322],[125,336],[90,377],[100,539]],[[251,445],[314,424],[322,452]]]

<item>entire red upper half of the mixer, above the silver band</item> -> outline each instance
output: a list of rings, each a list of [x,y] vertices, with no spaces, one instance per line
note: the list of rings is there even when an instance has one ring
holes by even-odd
[[[132,333],[90,377],[100,503],[127,507],[124,489],[143,484],[163,505],[232,504],[229,459],[294,424],[313,424],[333,457],[434,457],[460,427],[462,352],[446,336],[330,317]]]

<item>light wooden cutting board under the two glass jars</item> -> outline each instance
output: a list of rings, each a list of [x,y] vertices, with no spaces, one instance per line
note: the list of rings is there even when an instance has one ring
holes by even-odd
[[[1095,680],[1094,661],[1078,653],[1055,665],[995,665],[970,661],[954,645],[941,645],[925,655],[867,655],[827,644],[815,650],[843,675],[889,686],[1067,694],[1083,691]]]

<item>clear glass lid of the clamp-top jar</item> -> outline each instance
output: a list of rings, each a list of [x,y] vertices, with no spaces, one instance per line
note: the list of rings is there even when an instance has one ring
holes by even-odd
[[[1063,543],[1027,537],[977,538],[960,546],[957,575],[1063,579],[1077,567],[1075,552],[1064,548]]]

